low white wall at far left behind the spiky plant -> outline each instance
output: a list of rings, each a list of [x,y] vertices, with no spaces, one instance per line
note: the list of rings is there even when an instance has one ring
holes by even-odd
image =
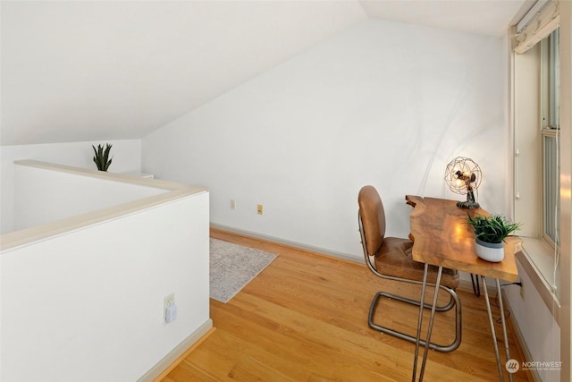
[[[57,165],[96,169],[93,149],[98,144],[114,145],[110,173],[139,172],[141,169],[141,140],[110,140],[93,142],[55,143],[42,145],[0,146],[0,233],[14,230],[14,164],[15,160],[35,159]]]

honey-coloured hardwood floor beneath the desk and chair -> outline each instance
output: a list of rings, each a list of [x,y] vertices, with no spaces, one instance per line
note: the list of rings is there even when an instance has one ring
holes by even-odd
[[[370,329],[367,312],[379,290],[415,297],[418,287],[381,280],[365,265],[305,250],[216,229],[211,236],[279,256],[228,303],[210,301],[216,330],[164,382],[411,380],[415,344]],[[462,343],[455,352],[429,352],[425,380],[499,380],[484,297],[458,293]],[[385,300],[378,312],[376,321],[415,335],[416,308]],[[493,314],[500,318],[498,308],[493,307]],[[453,312],[439,313],[433,339],[450,341],[453,327]],[[500,324],[497,333],[504,354]],[[511,358],[523,361],[511,327],[509,344]],[[514,379],[532,380],[522,370]]]

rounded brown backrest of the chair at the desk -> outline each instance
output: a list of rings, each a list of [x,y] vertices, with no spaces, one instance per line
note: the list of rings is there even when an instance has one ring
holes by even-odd
[[[363,230],[364,236],[362,240],[366,239],[364,249],[367,250],[367,255],[374,256],[382,246],[385,236],[385,210],[382,198],[374,186],[364,186],[357,195],[357,204],[362,225],[360,229]]]

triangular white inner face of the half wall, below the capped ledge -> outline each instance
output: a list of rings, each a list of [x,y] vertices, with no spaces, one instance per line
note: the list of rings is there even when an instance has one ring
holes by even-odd
[[[13,226],[20,230],[43,225],[164,192],[167,190],[16,164]]]

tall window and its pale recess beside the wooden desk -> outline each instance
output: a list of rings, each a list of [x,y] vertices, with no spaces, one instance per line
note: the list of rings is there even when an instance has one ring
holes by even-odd
[[[559,31],[514,55],[514,220],[544,284],[560,291]]]

